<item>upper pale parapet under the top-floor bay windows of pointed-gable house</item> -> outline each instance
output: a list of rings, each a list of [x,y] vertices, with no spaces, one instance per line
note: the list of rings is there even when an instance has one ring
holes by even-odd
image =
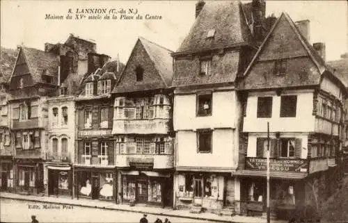
[[[116,120],[113,134],[166,134],[169,119]]]

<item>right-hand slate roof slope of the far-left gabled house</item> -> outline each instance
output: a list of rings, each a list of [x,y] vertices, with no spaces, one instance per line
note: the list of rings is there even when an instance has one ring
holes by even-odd
[[[29,47],[21,48],[34,83],[45,83],[45,81],[42,80],[42,74],[54,77],[58,76],[59,61],[54,53],[47,53]]]

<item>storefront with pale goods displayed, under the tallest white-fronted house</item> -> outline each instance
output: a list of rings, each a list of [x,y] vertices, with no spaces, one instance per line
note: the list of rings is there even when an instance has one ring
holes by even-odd
[[[234,181],[228,174],[209,172],[178,172],[175,184],[175,207],[221,210],[228,203]],[[231,201],[230,201],[231,203]]]

